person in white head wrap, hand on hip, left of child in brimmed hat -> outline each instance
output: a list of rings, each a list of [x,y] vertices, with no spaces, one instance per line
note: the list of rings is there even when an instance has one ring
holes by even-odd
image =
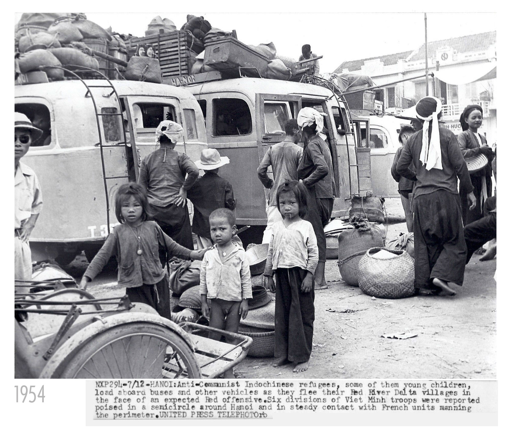
[[[183,128],[178,123],[161,121],[156,129],[159,148],[142,160],[138,182],[146,188],[149,212],[164,233],[193,250],[187,191],[199,170],[188,155],[174,149],[182,139]]]

